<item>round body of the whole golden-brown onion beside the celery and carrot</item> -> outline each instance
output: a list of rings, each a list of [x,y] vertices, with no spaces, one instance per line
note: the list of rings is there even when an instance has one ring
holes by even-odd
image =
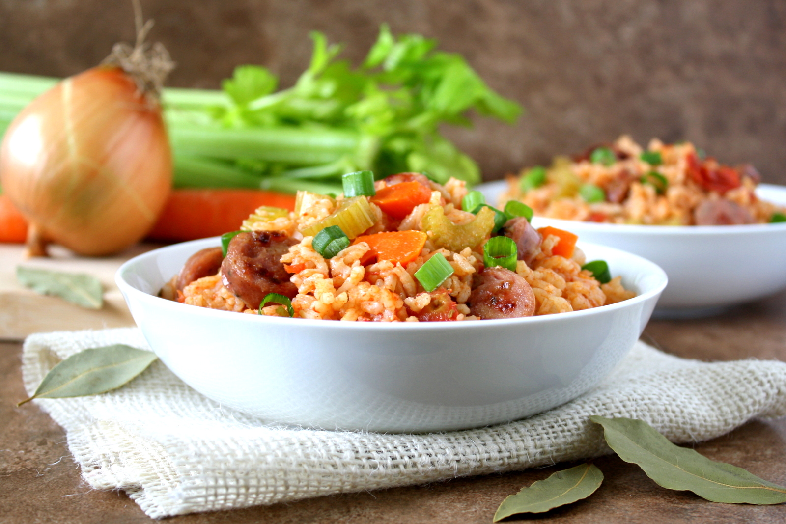
[[[116,67],[89,69],[43,93],[0,147],[3,192],[31,233],[80,255],[141,240],[167,199],[171,172],[160,105]]]

